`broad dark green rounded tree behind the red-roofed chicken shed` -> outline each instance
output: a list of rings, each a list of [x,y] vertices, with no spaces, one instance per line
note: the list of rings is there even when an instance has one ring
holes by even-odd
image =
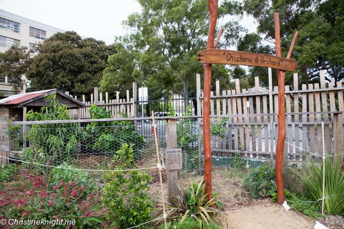
[[[94,38],[82,39],[76,32],[67,31],[38,43],[35,50],[39,54],[26,74],[35,90],[57,88],[89,96],[93,87],[99,85],[115,46],[106,46]]]

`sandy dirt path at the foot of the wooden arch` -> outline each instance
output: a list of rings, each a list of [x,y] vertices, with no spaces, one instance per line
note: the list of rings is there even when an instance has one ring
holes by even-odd
[[[227,214],[232,229],[302,229],[313,228],[315,225],[315,220],[309,221],[295,211],[286,211],[283,206],[275,203]]]

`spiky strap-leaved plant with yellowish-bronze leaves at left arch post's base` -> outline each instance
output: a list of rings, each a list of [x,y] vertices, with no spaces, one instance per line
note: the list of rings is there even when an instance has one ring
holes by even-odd
[[[178,197],[168,196],[167,208],[172,212],[168,215],[169,219],[178,218],[182,215],[180,223],[184,222],[188,217],[193,217],[197,220],[200,228],[204,228],[205,225],[209,224],[216,224],[223,228],[220,218],[220,216],[223,216],[228,226],[226,213],[211,207],[211,205],[218,203],[219,200],[213,198],[207,201],[204,179],[199,184],[192,183],[186,192],[183,189],[180,190],[175,181],[173,183],[177,188]]]

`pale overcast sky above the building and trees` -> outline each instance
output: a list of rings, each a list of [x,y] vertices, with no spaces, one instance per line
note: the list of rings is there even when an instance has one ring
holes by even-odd
[[[141,12],[136,0],[0,0],[0,9],[107,45],[127,33],[121,22],[128,15]],[[253,18],[245,17],[241,24],[256,30]]]

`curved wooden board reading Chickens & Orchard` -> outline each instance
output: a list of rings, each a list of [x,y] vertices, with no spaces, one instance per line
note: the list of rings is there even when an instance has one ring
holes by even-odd
[[[247,51],[201,50],[197,53],[197,59],[201,64],[250,65],[287,71],[294,71],[297,68],[296,60]]]

